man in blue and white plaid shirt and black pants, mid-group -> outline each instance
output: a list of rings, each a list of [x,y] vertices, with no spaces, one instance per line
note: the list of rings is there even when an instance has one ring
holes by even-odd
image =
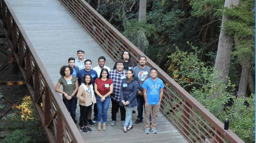
[[[113,93],[111,94],[111,102],[112,102],[112,109],[111,109],[111,118],[112,121],[110,123],[111,126],[115,125],[116,117],[117,117],[117,111],[120,108],[120,114],[121,114],[121,122],[124,124],[125,122],[125,109],[123,106],[119,105],[120,101],[120,88],[121,88],[121,82],[124,78],[126,78],[126,71],[123,69],[124,67],[124,61],[119,59],[116,61],[116,69],[113,69],[109,72],[109,78],[113,80]]]

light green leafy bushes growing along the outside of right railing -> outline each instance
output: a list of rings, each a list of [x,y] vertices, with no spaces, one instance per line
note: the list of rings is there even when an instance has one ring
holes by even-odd
[[[195,53],[177,50],[176,54],[171,56],[173,61],[182,67],[175,71],[175,74],[179,75],[179,78],[175,78],[175,80],[185,87],[188,86],[187,79],[196,81],[193,84],[190,81],[190,87],[192,87],[190,94],[220,121],[229,119],[229,128],[244,142],[254,143],[255,95],[236,98],[234,95],[235,85],[231,83],[231,80],[228,80],[227,85],[222,80],[217,80],[219,73],[214,71],[213,67],[205,67],[205,64],[197,59],[197,48],[193,48]],[[221,92],[223,89],[227,89],[226,92]],[[214,93],[221,95],[212,99]]]

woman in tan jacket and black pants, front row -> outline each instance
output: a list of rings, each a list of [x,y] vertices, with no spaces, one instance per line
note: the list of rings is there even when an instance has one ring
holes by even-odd
[[[91,78],[92,77],[90,74],[84,74],[84,77],[82,78],[82,83],[79,86],[76,95],[79,100],[80,107],[80,131],[83,133],[92,132],[92,130],[87,126],[89,110],[91,109],[92,103],[96,103],[93,85],[91,84]]]

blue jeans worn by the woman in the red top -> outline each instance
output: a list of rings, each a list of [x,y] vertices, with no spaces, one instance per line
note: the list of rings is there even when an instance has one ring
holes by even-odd
[[[97,101],[97,118],[98,118],[98,123],[101,123],[101,118],[103,118],[103,123],[107,123],[107,118],[108,118],[108,107],[110,104],[110,96],[106,97],[105,101],[100,101],[99,96],[96,96],[96,101]]]

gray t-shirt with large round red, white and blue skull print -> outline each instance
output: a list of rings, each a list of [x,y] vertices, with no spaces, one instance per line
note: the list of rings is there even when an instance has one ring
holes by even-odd
[[[144,81],[150,77],[150,69],[149,66],[146,66],[144,69],[141,69],[139,66],[133,68],[133,75],[138,82],[138,89],[140,91],[143,91],[142,85]]]

